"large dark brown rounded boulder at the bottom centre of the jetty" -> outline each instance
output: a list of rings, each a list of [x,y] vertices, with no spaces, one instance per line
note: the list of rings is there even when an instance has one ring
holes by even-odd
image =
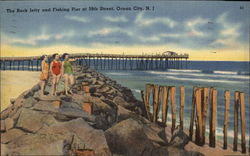
[[[105,131],[105,136],[114,154],[139,156],[154,149],[143,127],[133,119],[121,121]]]

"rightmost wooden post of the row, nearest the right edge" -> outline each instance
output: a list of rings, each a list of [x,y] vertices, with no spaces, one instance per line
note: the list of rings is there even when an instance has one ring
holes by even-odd
[[[240,93],[241,150],[246,153],[245,94]]]

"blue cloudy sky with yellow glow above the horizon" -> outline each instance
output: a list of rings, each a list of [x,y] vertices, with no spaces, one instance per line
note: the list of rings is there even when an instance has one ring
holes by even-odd
[[[1,57],[175,51],[190,60],[249,61],[248,2],[1,1],[0,13]]]

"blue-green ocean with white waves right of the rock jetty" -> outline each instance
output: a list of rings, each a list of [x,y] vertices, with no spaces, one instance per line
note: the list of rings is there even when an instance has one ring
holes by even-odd
[[[249,142],[250,106],[249,106],[249,62],[230,61],[188,61],[186,69],[168,70],[99,70],[104,75],[130,88],[135,97],[141,100],[141,90],[145,84],[176,86],[177,123],[179,123],[179,87],[185,86],[184,126],[189,128],[193,86],[214,87],[217,89],[217,139],[223,139],[224,91],[230,91],[230,110],[228,120],[228,139],[233,142],[234,92],[245,93],[246,139]],[[151,107],[152,108],[152,107]],[[171,125],[170,109],[168,123]],[[240,118],[239,118],[240,119]],[[209,135],[209,111],[207,118],[207,136]],[[240,129],[238,130],[240,132]],[[240,139],[240,134],[238,139]]]

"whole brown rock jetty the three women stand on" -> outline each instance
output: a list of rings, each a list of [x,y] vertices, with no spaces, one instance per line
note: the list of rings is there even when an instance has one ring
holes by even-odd
[[[64,95],[40,96],[39,85],[1,112],[1,155],[200,156],[185,151],[187,135],[173,136],[145,118],[129,88],[87,67],[74,66],[76,83]]]

